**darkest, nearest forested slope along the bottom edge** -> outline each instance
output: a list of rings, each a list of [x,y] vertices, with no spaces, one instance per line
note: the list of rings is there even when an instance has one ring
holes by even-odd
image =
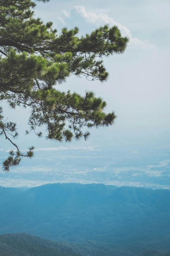
[[[127,250],[115,250],[94,242],[73,244],[53,242],[28,234],[0,236],[1,256],[136,256]],[[141,256],[170,256],[170,252],[145,251]]]

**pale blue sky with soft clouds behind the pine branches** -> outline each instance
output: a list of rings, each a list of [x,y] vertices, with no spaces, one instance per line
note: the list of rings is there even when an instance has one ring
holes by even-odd
[[[115,125],[92,130],[88,145],[94,141],[103,145],[106,140],[133,140],[134,143],[142,144],[144,139],[147,143],[150,143],[150,139],[169,139],[169,11],[168,0],[51,0],[50,3],[37,4],[35,17],[41,17],[44,22],[52,21],[59,33],[63,26],[78,26],[81,36],[107,23],[110,26],[117,25],[122,35],[130,38],[123,55],[104,59],[110,74],[107,82],[101,84],[99,81],[70,77],[65,84],[57,86],[62,91],[70,89],[80,94],[84,94],[85,90],[93,90],[97,96],[106,100],[107,111],[116,112],[118,118]],[[30,145],[36,148],[66,146],[64,142],[59,144],[45,139],[38,140],[34,134],[26,137],[24,134],[29,112],[20,108],[13,111],[5,103],[1,105],[8,120],[18,124],[20,137],[17,143],[21,149]],[[78,147],[83,143],[73,142],[72,145]],[[11,148],[2,138],[0,154],[5,154]]]

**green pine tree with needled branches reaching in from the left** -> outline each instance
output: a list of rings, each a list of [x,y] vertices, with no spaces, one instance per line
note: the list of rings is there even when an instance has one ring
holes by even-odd
[[[49,0],[40,0],[48,2]],[[106,102],[93,92],[84,96],[55,88],[73,75],[104,82],[108,73],[103,57],[122,54],[128,43],[117,26],[101,26],[91,34],[78,37],[78,27],[64,27],[58,34],[52,22],[34,18],[36,3],[31,0],[0,0],[0,100],[13,109],[31,110],[26,134],[47,127],[47,139],[70,142],[87,140],[89,131],[114,124],[114,112],[105,113]],[[13,139],[18,137],[16,123],[6,122],[0,107],[0,135],[16,150],[3,162],[4,171],[18,166],[22,157],[33,157],[34,147],[22,153]]]

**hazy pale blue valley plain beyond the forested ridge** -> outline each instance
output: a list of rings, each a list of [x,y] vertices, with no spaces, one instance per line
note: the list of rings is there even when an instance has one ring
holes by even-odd
[[[33,160],[23,160],[9,174],[1,172],[0,185],[33,187],[76,182],[169,189],[169,145],[167,139],[154,142],[146,138],[140,144],[134,140],[105,139],[100,143],[93,140],[37,148]],[[1,159],[7,155],[5,151],[1,151]]]

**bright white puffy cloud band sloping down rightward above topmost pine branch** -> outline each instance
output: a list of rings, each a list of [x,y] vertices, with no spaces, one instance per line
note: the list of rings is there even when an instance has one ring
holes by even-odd
[[[122,33],[122,36],[129,37],[129,47],[131,48],[140,47],[144,50],[156,49],[156,46],[154,44],[149,43],[148,41],[144,42],[138,38],[133,38],[130,30],[126,26],[123,26],[121,23],[114,21],[113,18],[110,18],[106,13],[96,14],[94,12],[87,12],[85,8],[81,5],[75,6],[74,9],[81,17],[83,17],[89,23],[96,24],[98,26],[104,24],[109,24],[110,26],[118,26]]]

